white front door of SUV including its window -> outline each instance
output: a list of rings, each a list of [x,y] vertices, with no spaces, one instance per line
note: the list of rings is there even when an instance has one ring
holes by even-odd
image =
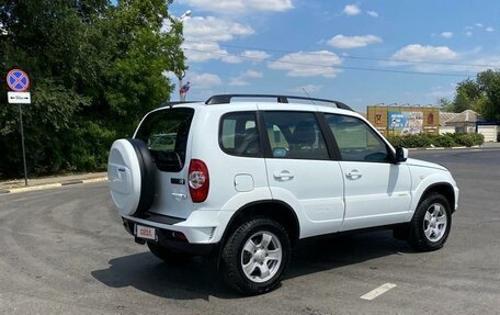
[[[326,119],[345,182],[341,230],[404,222],[411,202],[408,166],[391,162],[390,148],[363,120],[337,114]]]

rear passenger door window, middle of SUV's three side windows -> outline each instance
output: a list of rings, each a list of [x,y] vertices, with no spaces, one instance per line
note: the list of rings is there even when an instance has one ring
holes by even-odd
[[[314,113],[266,112],[264,117],[274,158],[329,159]]]

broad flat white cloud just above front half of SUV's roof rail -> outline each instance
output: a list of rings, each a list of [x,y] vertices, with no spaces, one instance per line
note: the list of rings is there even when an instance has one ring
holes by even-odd
[[[342,64],[342,59],[329,50],[298,52],[287,54],[276,61],[269,61],[268,66],[275,70],[285,70],[289,77],[322,76],[333,78],[341,70],[334,66]]]

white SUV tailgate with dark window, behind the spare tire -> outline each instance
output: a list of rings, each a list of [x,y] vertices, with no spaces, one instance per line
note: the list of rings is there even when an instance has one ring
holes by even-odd
[[[186,148],[193,116],[191,108],[154,111],[143,120],[134,136],[147,144],[158,167],[157,192],[149,212],[182,218],[191,213]]]

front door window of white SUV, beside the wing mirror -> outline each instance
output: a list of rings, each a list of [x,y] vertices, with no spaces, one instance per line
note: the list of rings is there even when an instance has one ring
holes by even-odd
[[[326,117],[343,160],[388,161],[385,142],[365,122],[342,115]]]

